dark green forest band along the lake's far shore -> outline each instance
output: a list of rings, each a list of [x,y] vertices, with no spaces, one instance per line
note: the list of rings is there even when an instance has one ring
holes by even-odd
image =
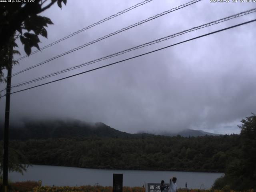
[[[49,138],[12,141],[32,164],[100,169],[224,172],[238,135]]]

